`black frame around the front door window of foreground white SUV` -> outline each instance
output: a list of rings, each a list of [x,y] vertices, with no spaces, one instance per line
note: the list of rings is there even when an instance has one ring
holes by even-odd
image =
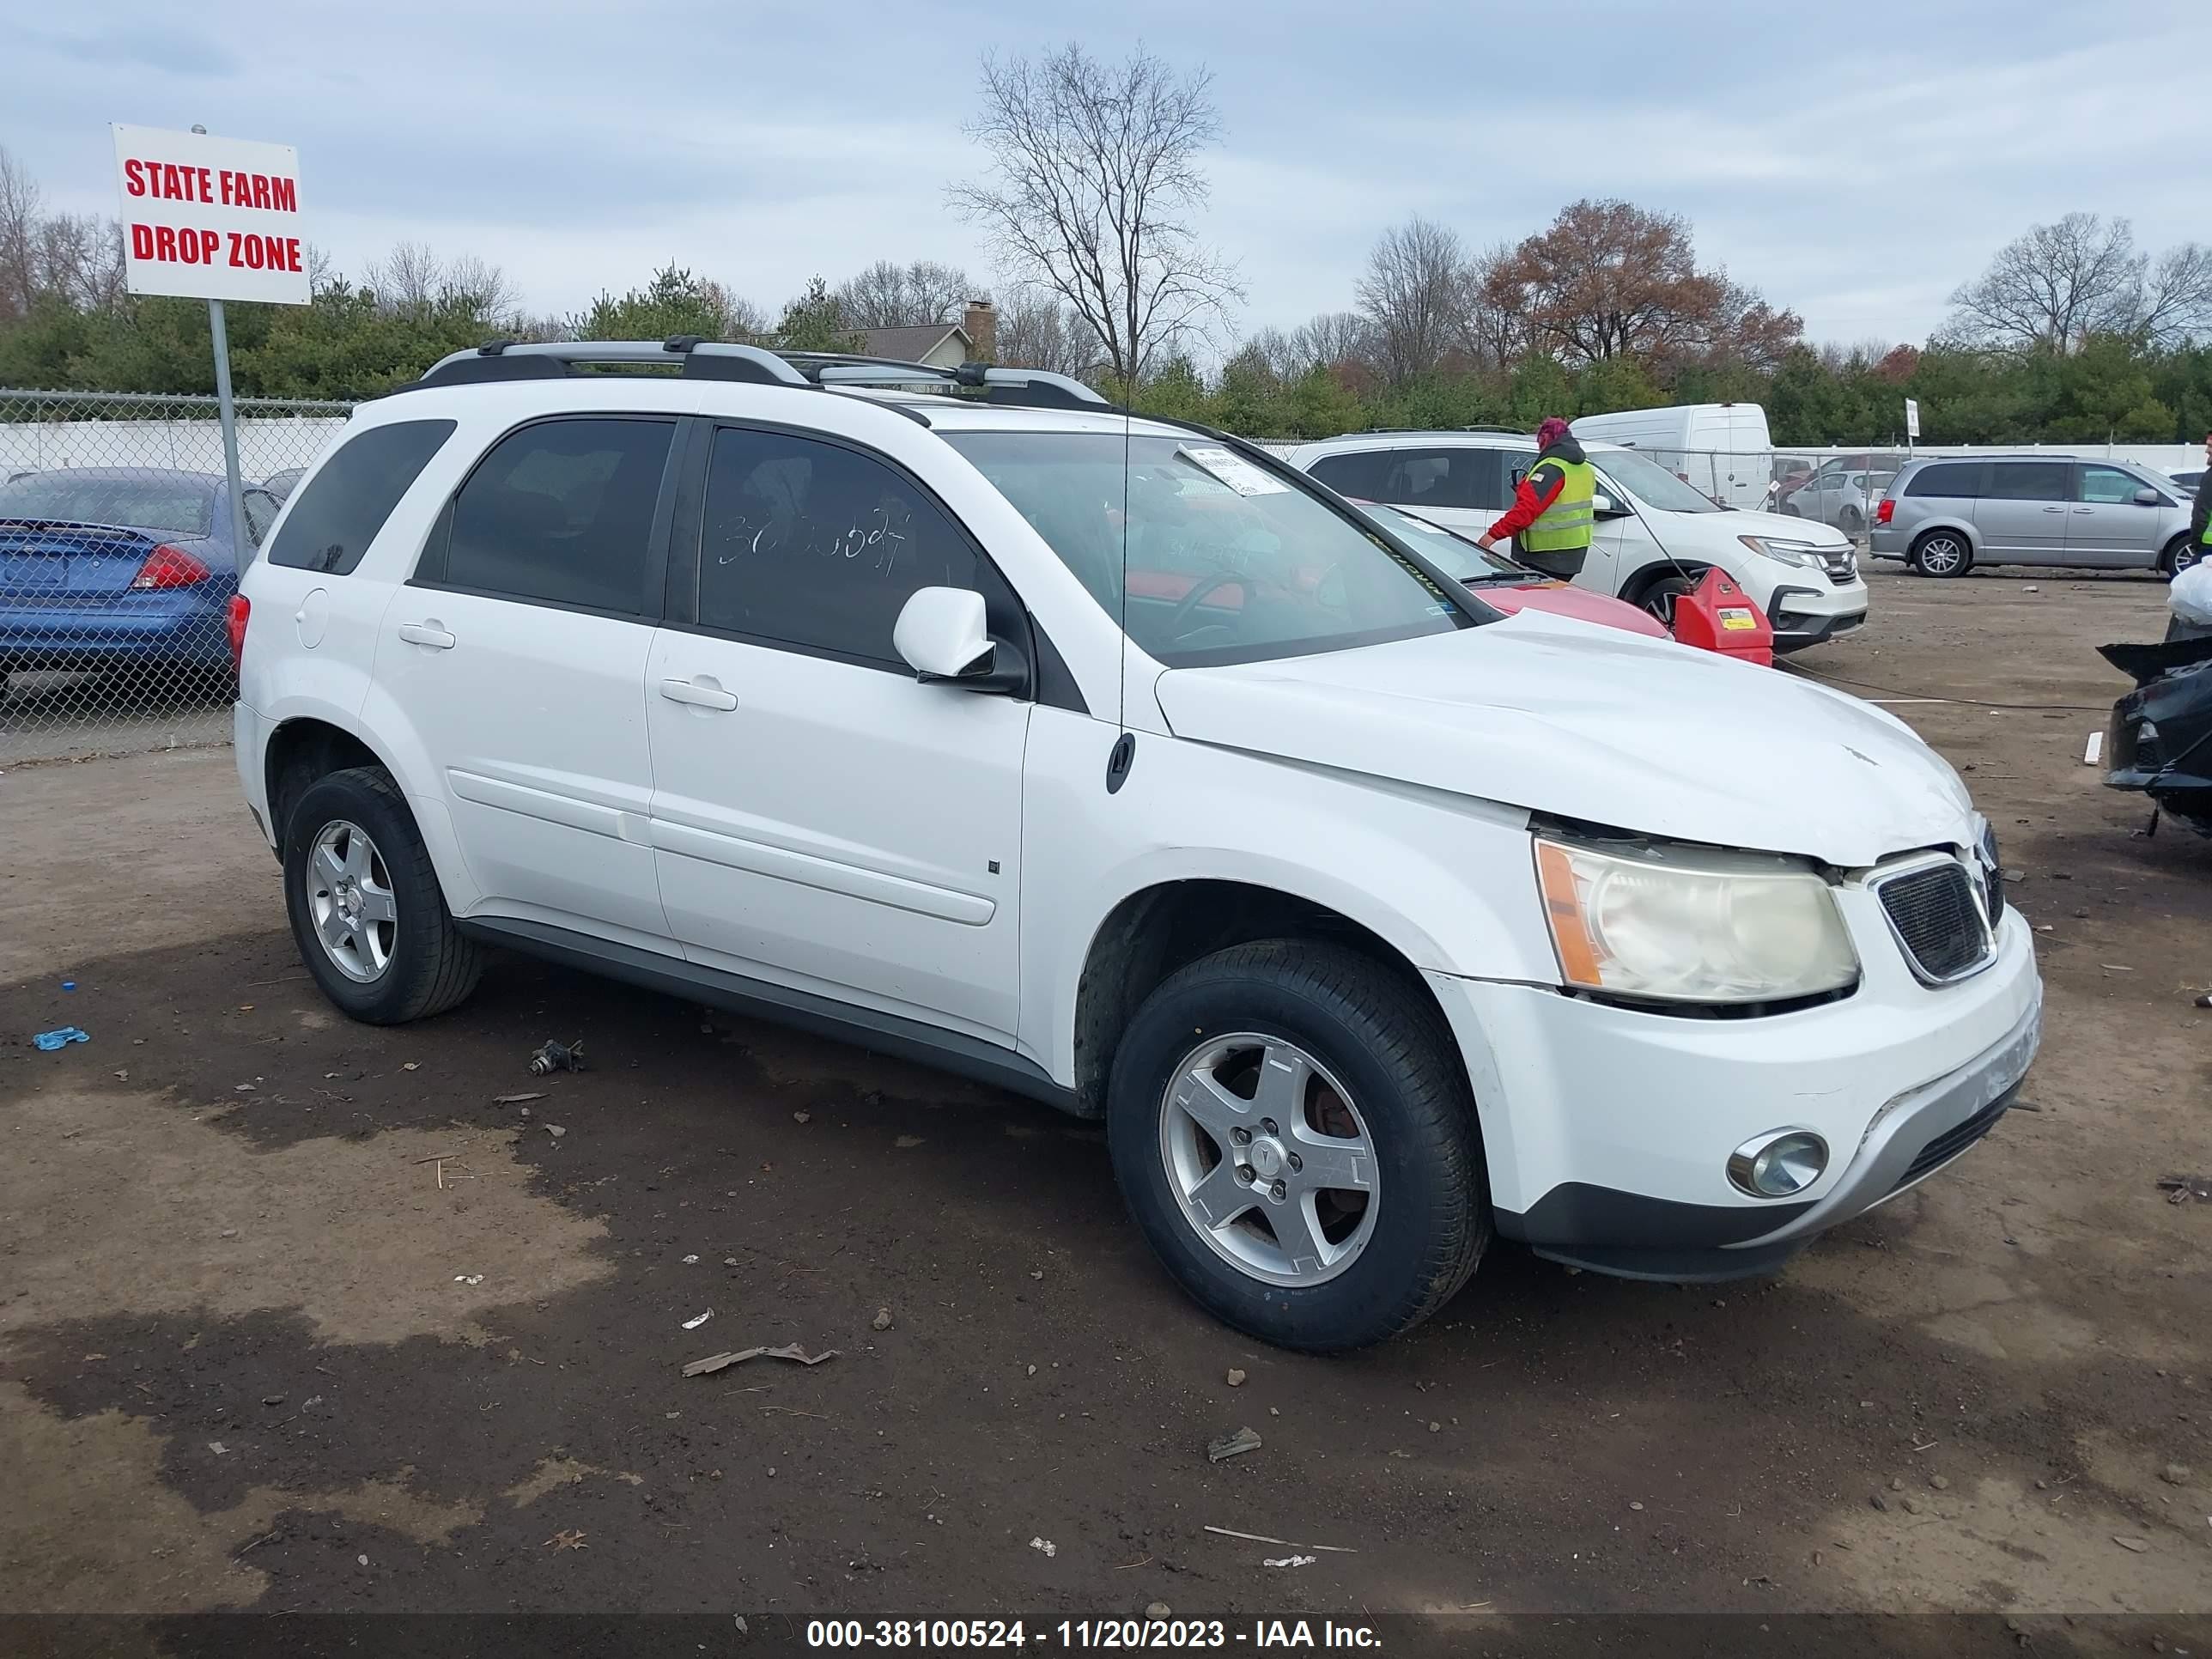
[[[929,484],[916,478],[911,467],[858,438],[847,438],[841,431],[823,431],[821,427],[801,427],[787,420],[741,420],[734,416],[699,416],[697,425],[699,434],[695,436],[690,453],[684,460],[684,476],[677,482],[677,500],[681,502],[684,520],[670,535],[668,604],[661,619],[664,628],[670,628],[675,633],[695,633],[701,635],[703,639],[728,639],[739,646],[759,646],[763,650],[787,650],[794,657],[836,661],[845,664],[847,668],[874,668],[876,672],[898,675],[902,679],[914,677],[914,670],[907,664],[898,661],[896,657],[887,661],[883,657],[867,657],[856,650],[810,646],[799,639],[779,639],[774,635],[741,633],[737,628],[714,628],[710,624],[699,622],[699,573],[703,568],[703,557],[706,557],[706,482],[708,482],[708,469],[714,458],[714,436],[721,431],[761,431],[761,434],[774,434],[779,438],[803,438],[807,442],[834,445],[854,456],[860,456],[863,460],[872,460],[878,467],[889,469],[891,476],[896,476],[902,484],[914,489],[916,495],[920,495],[925,502],[929,502],[945,515],[945,522],[951,524],[953,535],[958,535],[975,555],[978,571],[991,573],[1004,597],[1011,602],[1011,615],[993,617],[993,630],[998,630],[998,622],[1015,624],[1020,637],[1015,637],[1013,644],[1022,648],[1029,661],[1029,684],[1020,692],[1009,692],[1011,697],[1015,697],[1018,701],[1040,703],[1044,708],[1064,708],[1075,714],[1091,712],[1091,706],[1084,701],[1082,688],[1075,684],[1075,677],[1066,668],[1066,659],[1060,655],[1060,648],[1053,646],[1042,624],[1037,624],[1035,615],[1029,608],[1029,602],[1022,597],[1022,591],[1006,580],[1006,573],[1002,568],[998,568],[998,560],[991,557],[989,549],[984,549],[975,531],[967,526],[967,520],[962,520],[951,507],[947,507],[945,498],[938,495]],[[989,611],[998,611],[998,606],[991,606],[989,593],[984,593],[984,606]]]

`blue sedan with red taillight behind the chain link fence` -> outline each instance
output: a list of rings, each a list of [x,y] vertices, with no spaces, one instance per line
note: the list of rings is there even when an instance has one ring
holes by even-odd
[[[248,489],[241,538],[219,476],[166,467],[0,484],[0,686],[38,670],[230,670],[230,595],[276,509]]]

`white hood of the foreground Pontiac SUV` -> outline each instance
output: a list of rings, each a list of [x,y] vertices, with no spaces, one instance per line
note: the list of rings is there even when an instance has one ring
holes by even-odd
[[[1743,515],[1747,518],[1747,515]],[[1909,726],[1778,668],[1540,611],[1391,646],[1170,668],[1181,739],[1677,841],[1874,865],[1971,845]]]

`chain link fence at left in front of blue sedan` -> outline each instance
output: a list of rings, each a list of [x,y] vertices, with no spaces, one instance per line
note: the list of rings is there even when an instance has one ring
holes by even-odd
[[[230,739],[230,595],[343,403],[0,389],[0,765]]]

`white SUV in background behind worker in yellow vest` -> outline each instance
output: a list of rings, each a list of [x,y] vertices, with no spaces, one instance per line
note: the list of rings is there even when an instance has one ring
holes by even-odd
[[[1803,650],[1867,619],[1867,582],[1843,531],[1717,504],[1650,456],[1584,442],[1597,469],[1597,529],[1575,586],[1610,593],[1672,626],[1674,599],[1719,566],[1774,624],[1774,650]],[[1298,445],[1290,465],[1338,495],[1402,507],[1480,535],[1513,504],[1535,440],[1502,429],[1360,431]]]

